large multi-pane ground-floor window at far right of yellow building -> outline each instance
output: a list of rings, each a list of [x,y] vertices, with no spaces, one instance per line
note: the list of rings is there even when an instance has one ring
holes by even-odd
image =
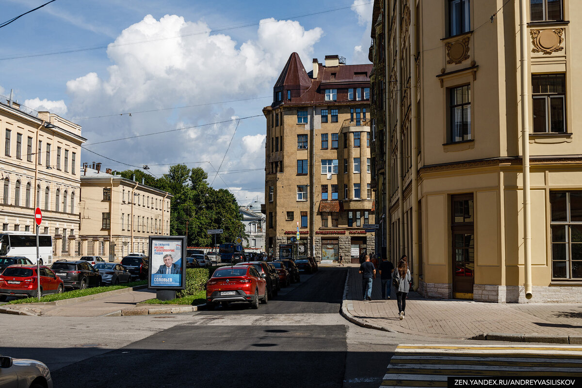
[[[552,278],[582,278],[582,192],[550,192]]]

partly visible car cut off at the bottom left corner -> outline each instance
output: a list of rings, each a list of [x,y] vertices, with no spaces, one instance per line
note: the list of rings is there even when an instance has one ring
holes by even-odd
[[[2,387],[52,388],[51,371],[40,361],[0,355]]]

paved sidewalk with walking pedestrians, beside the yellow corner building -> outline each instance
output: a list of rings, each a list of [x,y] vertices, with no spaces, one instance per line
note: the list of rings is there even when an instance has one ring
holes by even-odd
[[[424,299],[410,292],[406,317],[398,318],[396,293],[381,300],[376,278],[372,301],[363,301],[361,275],[349,265],[340,311],[354,324],[411,335],[517,342],[582,343],[582,304],[502,304]]]

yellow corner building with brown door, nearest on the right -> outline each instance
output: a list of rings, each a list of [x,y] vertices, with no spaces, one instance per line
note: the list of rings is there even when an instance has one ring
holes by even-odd
[[[576,15],[572,0],[375,1],[379,240],[424,296],[582,299]]]

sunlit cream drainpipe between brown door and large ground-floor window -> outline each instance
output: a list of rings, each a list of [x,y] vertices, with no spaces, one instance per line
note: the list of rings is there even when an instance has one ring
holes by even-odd
[[[526,278],[526,299],[531,299],[531,203],[530,203],[530,128],[529,128],[529,71],[527,63],[527,5],[526,0],[520,0],[519,35],[521,40],[520,70],[521,70],[521,149],[523,153],[523,253],[524,275]]]

